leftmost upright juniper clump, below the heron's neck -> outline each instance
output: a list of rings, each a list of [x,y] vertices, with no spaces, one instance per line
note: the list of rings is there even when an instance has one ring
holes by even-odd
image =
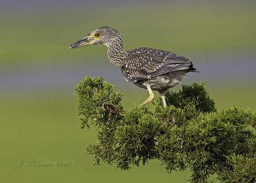
[[[103,77],[86,76],[75,87],[81,129],[90,127],[90,121],[96,125],[101,125],[106,121],[110,122],[113,116],[118,117],[118,113],[122,112],[120,104],[122,94],[116,92],[115,86],[103,79]]]

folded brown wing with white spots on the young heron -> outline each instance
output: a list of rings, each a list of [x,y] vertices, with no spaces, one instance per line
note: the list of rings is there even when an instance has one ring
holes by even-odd
[[[128,52],[122,64],[122,73],[127,81],[135,82],[191,67],[193,63],[184,56],[142,47]]]

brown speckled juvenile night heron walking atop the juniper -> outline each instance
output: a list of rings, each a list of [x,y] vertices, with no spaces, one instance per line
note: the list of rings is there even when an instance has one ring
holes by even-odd
[[[195,71],[193,63],[188,58],[173,52],[147,47],[124,51],[122,36],[109,27],[91,31],[88,36],[70,45],[69,48],[95,44],[104,44],[108,47],[109,61],[122,70],[127,81],[148,89],[149,97],[140,106],[154,99],[152,90],[160,93],[166,106],[166,91],[179,84],[186,72]]]

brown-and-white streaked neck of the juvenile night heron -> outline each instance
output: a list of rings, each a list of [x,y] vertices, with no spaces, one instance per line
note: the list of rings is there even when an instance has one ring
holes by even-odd
[[[108,47],[109,61],[113,65],[115,65],[115,67],[121,68],[122,61],[124,60],[124,57],[127,55],[127,52],[125,52],[123,48],[122,38],[115,40],[113,42],[108,42],[106,46]]]

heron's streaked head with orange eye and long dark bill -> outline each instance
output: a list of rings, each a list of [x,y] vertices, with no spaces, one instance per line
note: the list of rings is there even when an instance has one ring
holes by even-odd
[[[91,31],[88,36],[70,45],[69,48],[72,49],[83,47],[85,45],[96,44],[109,45],[109,43],[114,42],[115,40],[122,40],[122,36],[120,33],[118,33],[118,31],[109,27],[101,27]]]

